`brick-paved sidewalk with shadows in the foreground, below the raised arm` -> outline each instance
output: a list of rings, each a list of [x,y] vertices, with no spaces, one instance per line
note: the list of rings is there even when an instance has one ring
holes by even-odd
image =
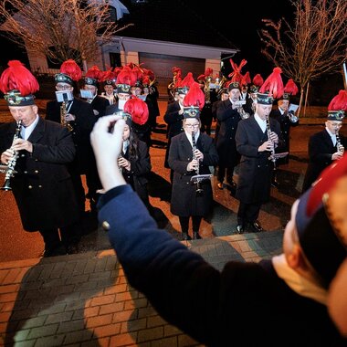
[[[216,268],[282,249],[282,231],[186,243]],[[0,263],[0,345],[195,346],[131,289],[113,250]]]

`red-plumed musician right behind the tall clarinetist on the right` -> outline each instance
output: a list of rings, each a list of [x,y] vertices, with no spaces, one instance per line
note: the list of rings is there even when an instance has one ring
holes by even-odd
[[[280,148],[277,148],[276,152],[289,152],[290,128],[299,125],[299,117],[294,114],[293,110],[289,110],[290,98],[291,96],[296,95],[298,90],[299,89],[293,79],[289,79],[284,87],[283,95],[278,99],[278,108],[274,108],[270,112],[270,117],[279,121],[280,132],[283,140],[283,145]],[[278,165],[282,163],[289,163],[289,154],[277,161]],[[276,177],[273,177],[272,183],[275,186],[279,184]]]

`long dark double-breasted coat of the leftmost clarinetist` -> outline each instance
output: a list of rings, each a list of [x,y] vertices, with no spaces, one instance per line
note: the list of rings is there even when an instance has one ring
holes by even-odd
[[[0,152],[11,147],[16,122],[0,127]],[[75,157],[71,134],[61,125],[39,119],[27,141],[33,152],[20,151],[11,178],[26,231],[68,226],[79,218],[67,164]]]

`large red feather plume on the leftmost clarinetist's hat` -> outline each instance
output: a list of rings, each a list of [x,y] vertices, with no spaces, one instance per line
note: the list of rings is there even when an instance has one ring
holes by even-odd
[[[22,96],[34,94],[39,85],[34,75],[19,60],[10,60],[0,78],[0,90],[19,90]]]

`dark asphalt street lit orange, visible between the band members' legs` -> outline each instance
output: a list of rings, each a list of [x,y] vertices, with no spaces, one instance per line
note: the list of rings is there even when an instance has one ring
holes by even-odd
[[[151,204],[155,207],[160,227],[180,238],[178,217],[170,212],[170,170],[163,167],[166,143],[165,123],[162,116],[158,119],[160,126],[152,133],[151,147],[152,174],[149,184]],[[322,120],[323,122],[324,120]],[[289,218],[290,206],[300,195],[303,175],[307,166],[307,142],[310,134],[320,131],[320,125],[299,125],[291,129],[289,164],[279,167],[279,189],[271,188],[271,200],[263,205],[259,221],[267,232],[283,229]],[[343,131],[342,131],[343,132]],[[4,174],[0,174],[3,184]],[[219,190],[216,177],[213,177],[215,207],[211,216],[203,220],[200,233],[202,237],[226,236],[235,233],[237,225],[238,201],[229,187]],[[237,177],[236,177],[237,180]],[[86,206],[89,209],[89,206]],[[37,232],[23,230],[16,202],[11,192],[0,191],[0,261],[26,258],[38,258],[44,244]],[[79,251],[110,248],[107,233],[95,228],[82,237]]]

